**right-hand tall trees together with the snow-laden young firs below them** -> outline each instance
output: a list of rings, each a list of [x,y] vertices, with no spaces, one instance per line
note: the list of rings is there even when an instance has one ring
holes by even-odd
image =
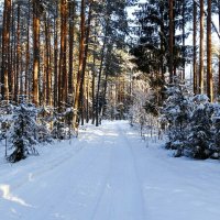
[[[219,158],[220,1],[148,0],[134,16],[132,61],[151,91],[136,95],[136,121],[152,128],[150,116],[160,118],[153,127],[175,156]]]

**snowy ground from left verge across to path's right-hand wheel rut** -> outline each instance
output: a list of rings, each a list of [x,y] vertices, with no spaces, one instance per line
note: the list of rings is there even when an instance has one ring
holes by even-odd
[[[146,219],[127,131],[128,122],[89,127],[77,143],[52,150],[53,157],[40,160],[41,165],[28,161],[18,169],[13,165],[16,172],[4,172],[0,183],[0,199],[7,205],[7,210],[0,207],[3,220]]]

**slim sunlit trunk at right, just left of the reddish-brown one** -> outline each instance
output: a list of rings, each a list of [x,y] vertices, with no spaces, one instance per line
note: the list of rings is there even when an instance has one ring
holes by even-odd
[[[204,0],[200,0],[199,94],[204,94]]]

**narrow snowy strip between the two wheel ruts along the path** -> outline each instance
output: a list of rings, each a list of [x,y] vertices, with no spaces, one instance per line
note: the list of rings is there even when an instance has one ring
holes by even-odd
[[[145,220],[144,198],[131,144],[121,127],[113,124],[110,130],[118,136],[114,139],[109,172],[90,219]]]

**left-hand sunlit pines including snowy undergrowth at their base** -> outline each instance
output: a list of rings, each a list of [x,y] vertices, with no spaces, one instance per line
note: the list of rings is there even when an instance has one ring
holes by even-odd
[[[13,120],[8,119],[30,105],[36,108],[34,124],[44,125],[43,133],[56,139],[68,136],[65,128],[76,135],[85,121],[99,125],[106,113],[123,118],[127,7],[133,2],[4,0],[0,16],[1,130],[11,131]],[[24,121],[22,131],[28,129]],[[9,132],[4,133],[2,139],[10,140]],[[38,133],[35,129],[30,138],[36,141]],[[18,143],[20,150],[25,145]],[[15,142],[10,144],[15,146]],[[23,156],[13,155],[11,161],[24,157],[22,152]]]

